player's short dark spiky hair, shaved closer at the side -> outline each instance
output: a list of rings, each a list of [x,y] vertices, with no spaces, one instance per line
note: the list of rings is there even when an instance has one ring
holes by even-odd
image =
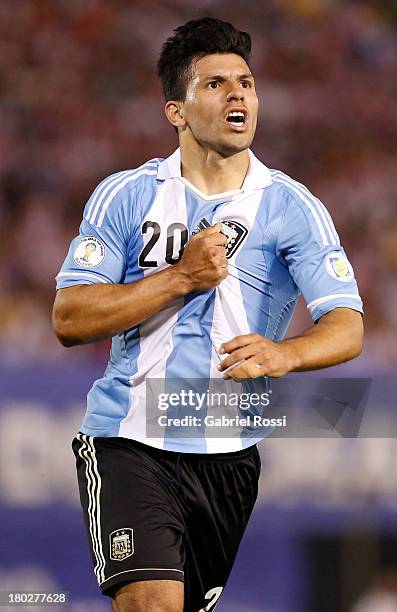
[[[157,63],[166,101],[185,100],[194,59],[212,53],[236,53],[249,63],[251,36],[227,21],[203,17],[188,21],[174,32],[163,44]]]

